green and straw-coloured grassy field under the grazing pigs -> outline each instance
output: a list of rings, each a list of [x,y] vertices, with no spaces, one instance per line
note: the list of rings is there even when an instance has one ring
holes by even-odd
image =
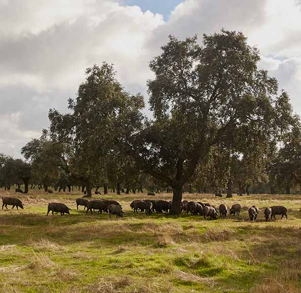
[[[17,197],[24,210],[0,211],[0,292],[301,292],[301,196],[183,196],[242,205],[240,216],[217,221],[133,214],[129,203],[145,194],[106,196],[122,204],[121,219],[76,210],[76,192]],[[67,204],[71,214],[47,217],[51,201]],[[248,221],[253,204],[260,208],[256,223]],[[288,220],[264,222],[269,205],[285,205]]]

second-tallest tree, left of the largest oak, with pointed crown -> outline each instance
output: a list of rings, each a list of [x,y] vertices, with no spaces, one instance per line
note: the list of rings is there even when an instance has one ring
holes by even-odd
[[[94,65],[86,75],[77,98],[69,99],[70,114],[50,110],[49,133],[63,146],[72,175],[85,182],[87,196],[92,196],[91,188],[107,181],[107,158],[116,160],[118,138],[140,126],[144,101],[140,94],[124,91],[112,65]]]

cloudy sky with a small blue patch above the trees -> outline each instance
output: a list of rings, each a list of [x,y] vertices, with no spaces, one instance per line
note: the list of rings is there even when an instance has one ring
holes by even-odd
[[[67,111],[85,68],[114,63],[135,94],[153,77],[149,61],[169,34],[242,31],[259,67],[279,81],[301,114],[301,6],[297,0],[0,0],[0,153],[20,149]]]

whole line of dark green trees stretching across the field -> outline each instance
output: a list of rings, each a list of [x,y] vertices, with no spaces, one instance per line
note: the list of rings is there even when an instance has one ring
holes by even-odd
[[[170,36],[161,49],[149,63],[151,117],[113,65],[87,68],[69,112],[50,109],[49,128],[22,148],[25,161],[1,155],[0,184],[167,190],[175,214],[183,191],[298,188],[299,117],[243,33],[204,34],[201,45]]]

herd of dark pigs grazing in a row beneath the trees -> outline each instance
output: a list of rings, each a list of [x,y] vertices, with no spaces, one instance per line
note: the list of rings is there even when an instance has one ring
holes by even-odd
[[[12,205],[12,209],[16,206],[17,209],[20,207],[24,208],[23,203],[18,198],[14,197],[2,197],[2,209],[5,206],[7,208],[8,205]],[[87,200],[85,198],[77,198],[76,199],[77,209],[79,206],[84,206],[86,210],[86,214],[88,211],[92,213],[92,210],[98,210],[99,213],[103,211],[107,212],[111,215],[116,215],[116,217],[123,217],[123,211],[120,203],[115,200]],[[139,211],[145,212],[146,215],[151,215],[153,212],[161,213],[165,211],[169,213],[172,206],[172,201],[165,200],[149,200],[149,199],[137,199],[130,203],[130,207],[134,213],[138,213]],[[54,212],[58,212],[61,215],[68,213],[70,214],[70,208],[63,203],[52,202],[48,204],[47,215],[51,211],[52,214]],[[202,203],[202,202],[194,202],[183,200],[181,203],[181,212],[191,213],[192,215],[203,215],[204,219],[210,217],[210,219],[217,219],[218,215],[220,218],[226,218],[228,212],[230,215],[239,215],[241,211],[240,204],[234,204],[228,210],[228,207],[225,204],[220,204],[217,209],[210,203]],[[257,215],[259,213],[259,208],[255,205],[251,206],[248,210],[250,221],[256,221]],[[276,215],[286,216],[287,218],[287,208],[284,206],[271,206],[266,207],[264,209],[264,217],[266,221],[270,221],[273,217],[276,219]]]

